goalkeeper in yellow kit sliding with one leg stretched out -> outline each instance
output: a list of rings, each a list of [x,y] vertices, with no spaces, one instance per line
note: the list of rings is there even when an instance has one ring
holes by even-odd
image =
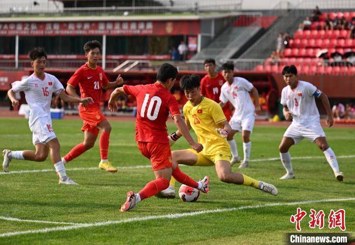
[[[225,183],[252,186],[271,195],[277,195],[275,186],[255,180],[241,173],[232,172],[230,146],[226,140],[231,126],[221,106],[200,93],[200,78],[196,75],[185,75],[180,80],[180,87],[189,100],[184,105],[184,116],[189,129],[197,135],[198,143],[203,145],[201,152],[193,149],[172,151],[172,165],[216,166],[218,178]],[[172,145],[182,134],[178,131],[169,136]],[[158,197],[175,197],[175,180],[170,186],[157,194]]]

